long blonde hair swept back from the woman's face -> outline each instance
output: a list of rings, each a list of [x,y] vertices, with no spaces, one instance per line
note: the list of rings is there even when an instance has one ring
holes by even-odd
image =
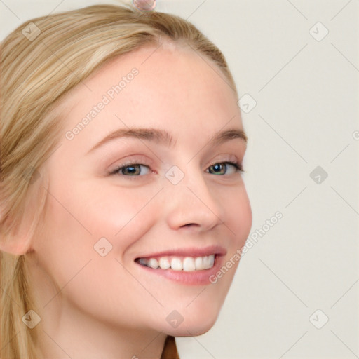
[[[187,43],[203,60],[217,65],[236,86],[221,51],[191,23],[175,15],[141,12],[131,6],[97,5],[35,18],[1,42],[0,241],[16,238],[25,216],[28,236],[41,224],[46,174],[41,165],[62,133],[60,100],[114,57],[161,39]],[[215,66],[213,66],[215,68]],[[35,196],[36,206],[29,208]],[[0,252],[0,358],[39,359],[38,327],[22,317],[33,309],[25,255]],[[168,337],[170,339],[170,337]],[[177,358],[175,341],[162,358]]]

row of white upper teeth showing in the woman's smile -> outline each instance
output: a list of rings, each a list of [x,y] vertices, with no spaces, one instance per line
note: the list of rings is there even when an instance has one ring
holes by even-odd
[[[203,271],[212,268],[215,263],[215,255],[206,255],[203,257],[161,257],[156,258],[140,258],[138,262],[144,266],[153,269],[172,269],[173,271]]]

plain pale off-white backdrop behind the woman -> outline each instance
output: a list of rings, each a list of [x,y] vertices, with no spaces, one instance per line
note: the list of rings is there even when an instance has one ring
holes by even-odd
[[[116,1],[0,0],[1,39],[101,3]],[[229,62],[258,235],[215,326],[177,338],[181,358],[359,358],[359,1],[159,0],[156,10],[193,22]]]

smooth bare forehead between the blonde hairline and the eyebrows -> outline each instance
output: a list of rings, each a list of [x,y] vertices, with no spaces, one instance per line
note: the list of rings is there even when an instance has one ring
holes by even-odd
[[[91,111],[76,141],[95,142],[116,128],[157,127],[186,135],[212,133],[231,121],[242,128],[236,93],[212,60],[191,47],[164,42],[121,55],[80,83],[67,96],[72,130]],[[101,102],[100,111],[94,107]],[[93,117],[93,118],[92,118]],[[93,140],[92,140],[93,139]]]

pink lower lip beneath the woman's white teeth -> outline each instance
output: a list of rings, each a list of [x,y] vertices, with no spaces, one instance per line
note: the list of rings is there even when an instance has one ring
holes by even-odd
[[[174,280],[177,283],[185,284],[185,285],[208,285],[212,284],[210,278],[215,276],[215,273],[219,271],[219,268],[222,265],[224,256],[216,255],[215,256],[215,264],[211,269],[204,269],[203,271],[174,271],[173,269],[154,269],[149,266],[142,266],[142,264],[138,264],[142,269],[148,271],[149,273],[154,273],[158,276],[163,276],[170,280]]]

